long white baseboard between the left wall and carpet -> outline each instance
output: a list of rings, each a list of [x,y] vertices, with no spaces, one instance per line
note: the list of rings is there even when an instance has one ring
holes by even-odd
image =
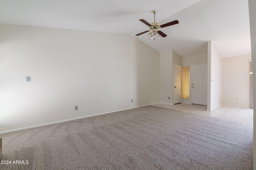
[[[150,105],[152,105],[152,104],[150,104]],[[86,118],[86,117],[92,117],[92,116],[104,115],[104,114],[108,114],[108,113],[114,113],[114,112],[119,112],[119,111],[125,111],[125,110],[129,110],[129,109],[134,109],[134,108],[138,108],[138,107],[143,107],[143,106],[148,106],[148,105],[142,105],[142,106],[137,106],[137,107],[131,107],[131,108],[128,108],[128,109],[121,109],[121,110],[117,110],[117,111],[99,113],[99,114],[96,114],[96,115],[89,115],[89,116],[78,117],[78,118],[74,118],[74,119],[67,119],[67,120],[64,120],[64,121],[57,121],[57,122],[44,123],[44,124],[41,124],[41,125],[34,125],[34,126],[30,126],[30,127],[16,128],[16,129],[12,129],[12,130],[2,131],[2,132],[0,132],[0,134],[9,133],[9,132],[15,132],[15,131],[19,131],[19,130],[28,129],[28,128],[42,127],[42,126],[45,126],[45,125],[51,125],[51,124],[55,124],[55,123],[62,123],[62,122],[67,122],[67,121],[73,121],[73,120],[76,120],[76,119],[83,119],[83,118]]]

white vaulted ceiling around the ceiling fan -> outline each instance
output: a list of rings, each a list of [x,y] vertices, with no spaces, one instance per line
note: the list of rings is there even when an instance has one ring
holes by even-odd
[[[140,22],[179,24],[161,28],[167,37],[150,41]],[[248,55],[250,25],[247,0],[0,0],[0,24],[131,34],[158,51],[179,55],[207,53],[213,41],[222,57]]]

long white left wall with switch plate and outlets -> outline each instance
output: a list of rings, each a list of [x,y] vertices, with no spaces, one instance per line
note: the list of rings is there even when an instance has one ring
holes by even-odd
[[[1,24],[0,132],[158,103],[159,55],[131,35]]]

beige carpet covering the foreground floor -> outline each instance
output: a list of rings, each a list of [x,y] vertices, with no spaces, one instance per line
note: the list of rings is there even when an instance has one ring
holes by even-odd
[[[253,168],[252,128],[154,106],[0,136],[2,160],[12,162],[1,170]]]

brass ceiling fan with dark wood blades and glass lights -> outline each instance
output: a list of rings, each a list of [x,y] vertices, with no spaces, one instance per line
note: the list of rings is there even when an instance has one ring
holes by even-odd
[[[172,22],[168,22],[166,24],[163,24],[163,25],[160,25],[159,23],[157,23],[155,21],[155,14],[156,14],[156,10],[153,10],[152,13],[154,14],[154,22],[152,22],[151,24],[149,24],[148,22],[146,22],[145,20],[141,19],[140,21],[143,22],[144,24],[146,24],[147,26],[149,26],[149,29],[150,30],[147,30],[147,31],[144,31],[144,32],[141,32],[140,34],[136,34],[136,36],[140,36],[141,34],[144,34],[146,32],[150,32],[147,37],[150,39],[150,40],[155,40],[156,39],[160,39],[162,37],[166,37],[167,35],[164,34],[162,31],[158,30],[159,28],[164,28],[164,27],[167,27],[167,26],[172,26],[174,24],[178,24],[178,20],[175,20],[175,21],[172,21]]]

